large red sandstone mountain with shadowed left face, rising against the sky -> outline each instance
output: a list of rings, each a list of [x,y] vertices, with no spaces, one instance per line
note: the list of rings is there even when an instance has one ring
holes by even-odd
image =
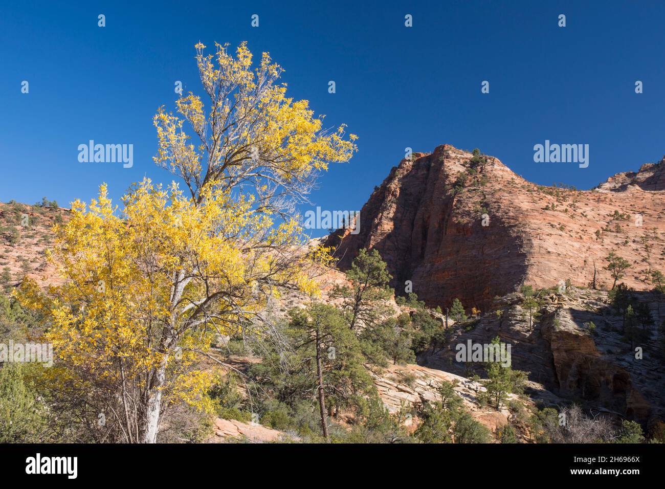
[[[392,168],[360,211],[360,232],[338,230],[326,244],[337,247],[340,269],[360,248],[378,249],[396,289],[410,280],[430,306],[458,297],[487,310],[523,283],[588,285],[594,264],[599,285],[611,287],[610,251],[632,264],[626,285],[649,289],[648,270],[665,270],[663,166],[571,190],[537,186],[497,158],[472,160],[444,144]]]

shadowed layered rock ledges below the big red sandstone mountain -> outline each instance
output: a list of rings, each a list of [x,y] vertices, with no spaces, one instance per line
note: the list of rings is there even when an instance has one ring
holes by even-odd
[[[634,418],[647,426],[665,418],[665,367],[660,357],[656,325],[665,319],[665,304],[655,292],[638,294],[648,305],[655,321],[647,327],[650,341],[636,359],[630,344],[622,340],[621,317],[610,307],[604,291],[571,287],[556,293],[541,310],[543,316],[529,329],[521,295],[513,293],[497,300],[503,321],[492,314],[466,331],[454,329],[449,348],[422,355],[419,363],[469,375],[481,370],[479,363],[456,361],[455,345],[489,343],[499,336],[511,345],[512,366],[529,371],[529,379],[541,383],[555,395],[585,404],[589,408]],[[659,300],[660,299],[660,300]],[[589,329],[593,322],[595,329]],[[533,399],[545,399],[547,392],[529,392]]]

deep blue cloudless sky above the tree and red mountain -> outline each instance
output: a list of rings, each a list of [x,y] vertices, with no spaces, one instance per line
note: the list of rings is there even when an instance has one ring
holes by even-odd
[[[152,162],[152,116],[174,107],[176,80],[198,91],[199,40],[269,51],[291,96],[358,134],[358,154],[312,196],[324,209],[360,209],[406,146],[478,147],[528,180],[579,188],[665,154],[663,2],[81,3],[1,7],[3,202],[65,206],[101,182],[118,197],[144,175],[170,180]],[[414,27],[404,27],[407,13]],[[79,163],[89,139],[134,144],[134,167]],[[533,162],[545,139],[589,144],[589,168]]]

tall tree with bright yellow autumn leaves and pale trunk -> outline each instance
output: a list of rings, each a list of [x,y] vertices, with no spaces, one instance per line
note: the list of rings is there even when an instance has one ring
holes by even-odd
[[[211,337],[271,334],[262,311],[282,289],[316,293],[311,279],[327,250],[302,253],[295,207],[317,173],[356,151],[344,126],[323,129],[305,100],[287,98],[281,67],[263,54],[253,69],[196,46],[208,106],[192,93],[160,108],[155,162],[181,178],[134,185],[115,207],[100,187],[72,204],[50,259],[65,283],[17,297],[41,311],[55,368],[41,379],[56,409],[98,441],[155,442],[175,403],[209,409],[198,369]],[[192,140],[198,139],[195,145]]]

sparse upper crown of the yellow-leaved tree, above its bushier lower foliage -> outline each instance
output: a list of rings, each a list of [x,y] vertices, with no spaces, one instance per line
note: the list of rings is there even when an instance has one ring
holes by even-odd
[[[253,190],[263,212],[288,211],[311,190],[317,170],[329,162],[348,161],[356,151],[356,136],[345,137],[342,124],[324,130],[323,116],[314,117],[307,100],[293,101],[283,69],[263,53],[252,70],[246,43],[233,57],[227,45],[215,44],[215,55],[203,55],[196,45],[196,63],[210,103],[208,113],[198,95],[176,101],[178,115],[160,108],[154,117],[159,146],[155,162],[186,183],[192,199],[201,203],[207,185],[243,186]],[[187,122],[198,138],[190,143]]]

